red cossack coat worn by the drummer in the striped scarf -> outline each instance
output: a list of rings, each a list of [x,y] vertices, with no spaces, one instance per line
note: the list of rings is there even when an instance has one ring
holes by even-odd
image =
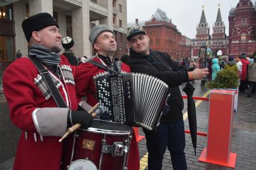
[[[61,56],[60,65],[70,65],[66,57]],[[4,94],[10,108],[10,118],[14,125],[22,130],[13,169],[60,169],[63,143],[60,137],[44,136],[40,139],[34,126],[32,112],[36,108],[57,108],[54,99],[45,99],[35,85],[34,79],[39,74],[29,58],[22,57],[8,66],[4,73]],[[75,70],[73,70],[73,77]],[[77,109],[75,86],[66,83],[64,87],[69,96],[69,107]],[[58,88],[64,101],[68,98],[62,87]],[[54,113],[53,113],[54,114]],[[66,124],[67,122],[63,122]],[[27,140],[25,139],[27,132]],[[37,141],[34,139],[36,134]]]

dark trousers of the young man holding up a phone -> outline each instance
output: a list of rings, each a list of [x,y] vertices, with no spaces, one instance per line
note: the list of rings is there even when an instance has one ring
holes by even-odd
[[[173,169],[187,169],[183,117],[174,123],[160,124],[156,130],[143,129],[148,149],[148,169],[161,170],[166,147],[170,151]]]

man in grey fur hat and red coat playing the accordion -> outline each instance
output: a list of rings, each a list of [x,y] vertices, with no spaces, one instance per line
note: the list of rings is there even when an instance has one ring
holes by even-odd
[[[96,25],[90,31],[89,35],[90,42],[92,43],[93,49],[96,50],[97,55],[93,56],[92,61],[96,61],[104,67],[110,70],[118,70],[117,58],[114,57],[116,53],[116,40],[114,32],[107,25]],[[122,71],[130,72],[130,67],[124,63],[121,64]],[[96,99],[96,87],[93,82],[93,76],[98,73],[105,72],[106,70],[92,64],[90,62],[82,63],[77,68],[77,74],[75,77],[76,82],[76,96],[80,106],[84,109],[86,102],[93,106],[98,101]],[[82,99],[86,97],[87,101],[84,102]],[[108,119],[108,115],[104,114],[104,119]],[[131,140],[130,153],[128,159],[128,169],[137,170],[140,168],[139,164],[139,150],[137,147],[136,137],[133,134]]]

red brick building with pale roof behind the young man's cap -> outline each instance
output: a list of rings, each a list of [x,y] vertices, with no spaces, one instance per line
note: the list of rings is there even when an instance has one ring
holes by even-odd
[[[173,59],[190,58],[190,39],[178,31],[172,20],[159,8],[146,22],[128,23],[128,28],[142,25],[149,35],[149,47],[153,50],[168,53]]]

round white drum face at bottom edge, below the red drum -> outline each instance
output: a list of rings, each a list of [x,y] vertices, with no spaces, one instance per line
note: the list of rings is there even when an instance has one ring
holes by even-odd
[[[97,167],[90,160],[78,159],[72,162],[67,170],[78,170],[78,169],[97,170]]]

